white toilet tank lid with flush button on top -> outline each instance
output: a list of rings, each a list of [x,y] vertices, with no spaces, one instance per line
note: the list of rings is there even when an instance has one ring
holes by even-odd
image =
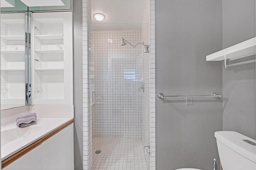
[[[214,136],[235,152],[256,162],[256,146],[243,141],[250,140],[256,143],[256,140],[234,131],[218,131],[214,133]]]

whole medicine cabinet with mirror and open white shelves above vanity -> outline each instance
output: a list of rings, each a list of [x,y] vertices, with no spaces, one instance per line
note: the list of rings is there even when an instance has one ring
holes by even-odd
[[[72,0],[0,3],[1,110],[72,104]]]

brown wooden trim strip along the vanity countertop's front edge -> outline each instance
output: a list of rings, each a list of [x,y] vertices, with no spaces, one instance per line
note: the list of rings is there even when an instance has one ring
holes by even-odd
[[[40,144],[42,144],[42,142],[46,141],[48,138],[52,137],[54,134],[60,132],[61,130],[63,130],[64,128],[68,127],[69,125],[71,125],[74,122],[74,120],[71,120],[67,123],[65,123],[64,125],[62,125],[61,127],[57,128],[56,130],[50,132],[49,134],[46,134],[46,136],[38,139],[36,142],[28,145],[26,148],[20,150],[19,152],[13,154],[12,156],[6,158],[5,160],[2,161],[2,168],[5,168],[6,166],[8,166],[9,164],[11,164],[12,162],[14,162],[15,160],[17,160],[18,158],[20,158],[21,156],[23,156],[24,154],[30,152],[31,150],[33,150],[34,148],[36,148],[37,146],[39,146]]]

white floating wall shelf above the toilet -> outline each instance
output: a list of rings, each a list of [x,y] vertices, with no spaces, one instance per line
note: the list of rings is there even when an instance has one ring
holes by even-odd
[[[256,38],[246,40],[216,53],[206,56],[206,61],[222,61],[224,59],[239,59],[255,55]]]

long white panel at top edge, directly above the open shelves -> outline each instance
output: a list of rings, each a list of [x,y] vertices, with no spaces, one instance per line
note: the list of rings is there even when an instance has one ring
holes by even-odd
[[[20,0],[26,6],[65,6],[63,0]]]

